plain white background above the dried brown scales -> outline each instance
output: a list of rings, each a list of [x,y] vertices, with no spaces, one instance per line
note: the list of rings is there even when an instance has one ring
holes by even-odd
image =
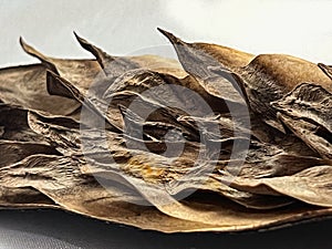
[[[328,0],[0,0],[0,66],[37,62],[20,35],[49,55],[91,58],[72,31],[120,55],[168,44],[156,27],[185,41],[332,64],[331,12]]]

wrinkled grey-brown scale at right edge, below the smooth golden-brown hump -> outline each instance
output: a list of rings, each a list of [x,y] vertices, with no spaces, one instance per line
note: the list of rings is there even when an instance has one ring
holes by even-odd
[[[312,149],[332,158],[332,94],[320,85],[303,83],[272,103],[278,117]]]

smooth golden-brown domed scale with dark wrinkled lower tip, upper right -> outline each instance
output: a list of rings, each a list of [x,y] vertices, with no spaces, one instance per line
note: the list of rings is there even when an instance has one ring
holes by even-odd
[[[249,104],[253,112],[264,115],[271,126],[283,131],[271,102],[280,100],[298,84],[314,82],[332,90],[331,80],[314,64],[283,54],[261,54],[239,69]]]

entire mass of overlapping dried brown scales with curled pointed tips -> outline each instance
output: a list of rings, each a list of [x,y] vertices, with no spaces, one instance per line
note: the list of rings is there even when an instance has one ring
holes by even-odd
[[[0,70],[0,206],[164,232],[331,215],[330,66],[159,31],[184,70],[110,55],[76,33],[95,60],[50,58],[20,40],[41,64]]]

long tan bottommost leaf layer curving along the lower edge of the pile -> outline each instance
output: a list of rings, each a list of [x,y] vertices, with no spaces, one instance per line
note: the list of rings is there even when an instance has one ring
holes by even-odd
[[[1,186],[33,186],[63,209],[165,232],[258,229],[293,222],[302,217],[314,218],[331,211],[308,206],[292,206],[270,211],[248,211],[224,199],[209,199],[205,203],[200,198],[194,198],[183,204],[175,203],[164,207],[164,210],[172,215],[185,218],[176,219],[160,214],[154,207],[128,204],[127,200],[135,198],[135,195],[131,191],[124,193],[123,187],[118,191],[116,185],[111,185],[106,190],[93,178],[81,175],[76,163],[70,158],[31,156],[10,168],[0,169],[0,174]],[[185,212],[181,210],[184,208]],[[197,222],[197,218],[204,219],[205,224]]]

